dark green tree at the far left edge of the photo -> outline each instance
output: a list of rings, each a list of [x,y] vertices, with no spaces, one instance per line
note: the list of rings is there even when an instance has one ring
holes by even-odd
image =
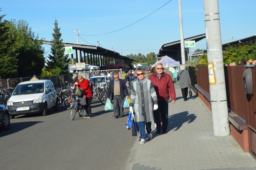
[[[2,21],[4,16],[0,15],[0,78],[7,79],[17,77],[18,66],[15,38],[11,34],[12,24],[7,20]]]

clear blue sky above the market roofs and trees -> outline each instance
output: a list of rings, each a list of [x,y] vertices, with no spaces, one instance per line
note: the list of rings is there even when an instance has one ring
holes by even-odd
[[[32,31],[45,40],[52,40],[56,18],[63,42],[77,43],[73,31],[78,29],[79,44],[98,45],[97,41],[101,41],[102,47],[109,50],[114,47],[120,54],[123,51],[124,56],[146,55],[157,54],[162,44],[180,40],[178,0],[167,2],[169,0],[2,1],[0,15],[7,14],[5,20],[27,21]],[[181,7],[184,38],[205,33],[203,0],[181,0]],[[230,42],[232,37],[238,40],[256,35],[255,0],[220,0],[219,12],[222,44]],[[122,29],[126,26],[129,27]],[[122,30],[113,32],[118,29]],[[108,32],[113,33],[105,34]],[[47,56],[50,46],[44,45],[44,48]],[[206,40],[197,42],[191,50],[197,48],[206,49]]]

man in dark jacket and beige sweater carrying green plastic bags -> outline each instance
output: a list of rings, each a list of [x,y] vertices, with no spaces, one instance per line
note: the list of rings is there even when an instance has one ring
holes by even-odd
[[[125,85],[124,80],[119,79],[117,73],[114,73],[114,80],[111,80],[108,87],[107,99],[110,98],[114,101],[114,117],[118,118],[120,113],[120,117],[123,117],[123,102],[124,95],[129,97],[127,87]]]

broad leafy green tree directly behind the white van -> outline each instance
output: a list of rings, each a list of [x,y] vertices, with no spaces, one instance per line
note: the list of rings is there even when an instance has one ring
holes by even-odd
[[[11,20],[13,25],[11,35],[15,37],[15,49],[18,51],[18,77],[40,75],[44,68],[44,48],[38,34],[32,31],[24,20]]]

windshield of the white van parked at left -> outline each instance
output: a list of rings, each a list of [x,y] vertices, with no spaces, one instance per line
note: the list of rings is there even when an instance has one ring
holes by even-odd
[[[12,95],[43,93],[44,83],[28,83],[18,85]]]

